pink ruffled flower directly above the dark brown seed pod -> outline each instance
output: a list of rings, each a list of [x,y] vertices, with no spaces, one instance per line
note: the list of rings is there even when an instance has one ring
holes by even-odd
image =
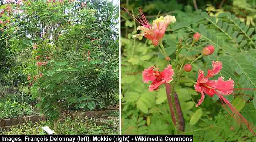
[[[159,89],[161,84],[170,83],[173,79],[172,76],[174,75],[171,65],[167,65],[167,68],[161,72],[154,69],[155,67],[151,66],[148,69],[144,69],[142,72],[142,81],[144,83],[152,81],[151,85],[149,86],[150,91]]]

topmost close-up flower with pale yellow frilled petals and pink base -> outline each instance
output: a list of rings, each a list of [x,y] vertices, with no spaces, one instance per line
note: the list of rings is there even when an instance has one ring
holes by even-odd
[[[125,8],[124,8],[125,9]],[[126,10],[126,9],[125,9]],[[128,12],[128,10],[126,10]],[[156,47],[162,42],[162,38],[164,37],[165,30],[170,23],[175,23],[175,16],[166,15],[165,17],[160,16],[156,20],[153,20],[152,26],[149,24],[145,15],[142,12],[142,9],[139,8],[140,14],[142,18],[138,16],[138,19],[135,18],[130,12],[128,12],[136,21],[138,21],[142,26],[139,26],[137,30],[141,30],[141,34],[136,34],[134,37],[146,37],[149,40],[152,40],[153,45]]]

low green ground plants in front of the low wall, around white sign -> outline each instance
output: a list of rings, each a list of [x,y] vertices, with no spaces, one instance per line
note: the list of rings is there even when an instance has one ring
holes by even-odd
[[[119,125],[119,124],[118,124]],[[9,132],[2,131],[0,135],[47,135],[42,129],[49,126],[49,121],[41,121],[35,124],[28,122],[20,128],[12,127]],[[67,118],[64,122],[58,121],[58,135],[118,135],[119,130],[111,129],[107,125],[97,125],[89,119]]]

